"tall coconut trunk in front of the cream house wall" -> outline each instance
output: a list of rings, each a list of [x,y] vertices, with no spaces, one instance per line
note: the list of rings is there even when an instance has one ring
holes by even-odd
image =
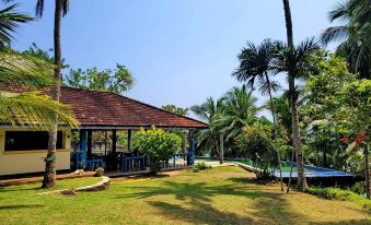
[[[60,50],[60,23],[61,23],[61,1],[56,0],[55,19],[54,19],[54,80],[55,84],[51,88],[51,98],[59,102],[60,96],[60,68],[61,68],[61,50]],[[51,188],[56,185],[56,149],[57,149],[57,130],[58,116],[55,115],[53,130],[49,132],[49,142],[47,156],[45,158],[45,174],[43,188]]]

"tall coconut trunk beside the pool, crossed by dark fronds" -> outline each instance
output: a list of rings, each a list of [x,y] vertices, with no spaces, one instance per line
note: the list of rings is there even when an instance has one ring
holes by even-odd
[[[286,31],[287,31],[287,42],[289,48],[293,49],[293,34],[292,34],[292,20],[291,20],[291,10],[289,0],[283,1],[285,19],[286,19]],[[291,64],[291,67],[293,67]],[[294,68],[289,68],[289,93],[290,93],[290,103],[291,103],[291,120],[292,120],[292,147],[297,153],[297,166],[298,166],[298,189],[300,191],[308,190],[308,183],[304,173],[303,164],[303,152],[300,139],[300,128],[299,128],[299,115],[298,115],[298,103],[295,96],[295,79],[294,79]],[[291,180],[291,177],[290,177]],[[288,187],[289,192],[289,187]]]

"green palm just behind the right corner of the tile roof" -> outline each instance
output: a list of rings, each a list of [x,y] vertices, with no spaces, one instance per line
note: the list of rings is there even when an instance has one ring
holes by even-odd
[[[219,150],[219,133],[215,130],[212,126],[217,115],[221,112],[221,108],[223,105],[223,99],[220,98],[215,100],[212,97],[206,99],[204,104],[200,106],[193,106],[190,110],[202,121],[210,125],[210,129],[208,130],[200,130],[198,131],[195,137],[198,140],[197,149],[198,151],[201,150],[216,150],[217,154],[219,155],[220,163],[222,163],[222,155]]]

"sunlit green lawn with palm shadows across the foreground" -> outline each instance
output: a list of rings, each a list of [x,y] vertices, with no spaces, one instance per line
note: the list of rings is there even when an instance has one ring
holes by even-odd
[[[108,190],[36,196],[37,186],[0,189],[0,224],[369,224],[351,201],[281,193],[239,167],[113,179]]]

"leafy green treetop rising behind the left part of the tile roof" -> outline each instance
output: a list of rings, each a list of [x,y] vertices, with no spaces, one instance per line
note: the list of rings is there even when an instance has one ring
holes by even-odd
[[[129,70],[123,64],[116,64],[114,70],[98,71],[96,68],[71,70],[66,78],[68,86],[121,94],[132,87],[135,80]]]

